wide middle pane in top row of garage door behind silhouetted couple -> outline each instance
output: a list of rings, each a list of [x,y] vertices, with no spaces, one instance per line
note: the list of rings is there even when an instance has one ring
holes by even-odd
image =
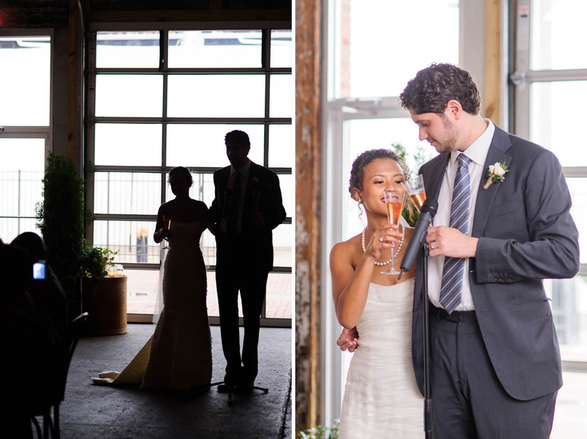
[[[261,67],[261,31],[169,31],[168,65]]]

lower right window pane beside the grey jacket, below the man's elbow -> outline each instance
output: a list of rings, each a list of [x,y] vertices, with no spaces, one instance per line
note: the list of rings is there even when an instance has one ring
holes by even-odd
[[[587,276],[545,280],[561,357],[566,361],[587,361]]]

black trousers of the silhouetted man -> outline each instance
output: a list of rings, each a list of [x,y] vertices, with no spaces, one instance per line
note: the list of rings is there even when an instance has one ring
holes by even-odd
[[[226,358],[226,374],[232,379],[253,382],[258,371],[257,346],[259,342],[260,315],[267,289],[268,271],[255,267],[254,261],[243,254],[243,249],[231,248],[230,263],[218,261],[216,266],[216,289],[220,312],[222,349]],[[246,252],[244,252],[246,253]],[[229,253],[230,254],[230,253]],[[243,340],[242,371],[240,338],[238,332],[238,293],[243,308],[245,336]]]

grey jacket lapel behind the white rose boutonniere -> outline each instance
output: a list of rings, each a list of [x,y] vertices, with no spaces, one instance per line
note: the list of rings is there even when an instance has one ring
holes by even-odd
[[[496,125],[495,133],[490,144],[489,152],[487,152],[487,159],[483,166],[483,174],[479,184],[479,191],[477,192],[477,203],[475,204],[475,220],[473,221],[473,229],[471,232],[472,236],[482,236],[485,230],[485,224],[487,224],[488,213],[491,210],[497,191],[502,187],[499,183],[494,183],[487,189],[483,189],[485,182],[487,181],[487,169],[490,164],[495,162],[505,162],[509,164],[512,160],[512,156],[506,154],[505,151],[512,146],[512,142],[509,141],[508,134],[502,129],[499,129]]]

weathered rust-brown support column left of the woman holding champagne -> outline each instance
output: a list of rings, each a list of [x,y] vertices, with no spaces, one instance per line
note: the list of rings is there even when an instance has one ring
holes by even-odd
[[[320,4],[296,2],[296,430],[316,425],[319,414]]]

